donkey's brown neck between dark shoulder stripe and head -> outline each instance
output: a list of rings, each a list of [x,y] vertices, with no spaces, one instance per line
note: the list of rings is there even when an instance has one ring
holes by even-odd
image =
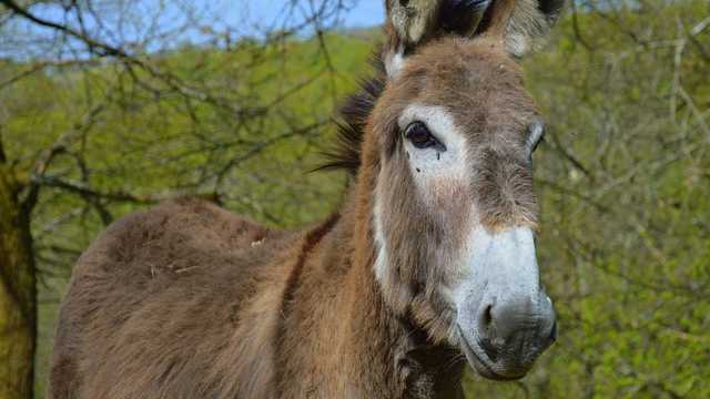
[[[284,290],[276,379],[282,397],[456,398],[463,360],[383,298],[365,172],[339,216],[311,229]],[[293,395],[291,393],[293,392]]]

